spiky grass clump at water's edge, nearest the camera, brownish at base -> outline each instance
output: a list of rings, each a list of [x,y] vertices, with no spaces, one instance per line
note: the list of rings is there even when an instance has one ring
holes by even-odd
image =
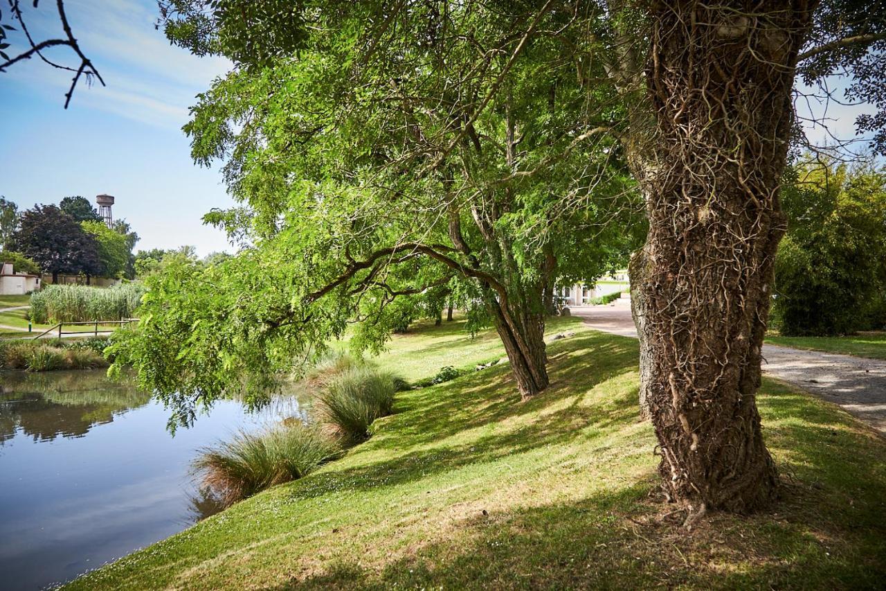
[[[304,477],[340,448],[303,424],[263,433],[240,431],[230,441],[205,448],[191,468],[224,507],[264,489]]]

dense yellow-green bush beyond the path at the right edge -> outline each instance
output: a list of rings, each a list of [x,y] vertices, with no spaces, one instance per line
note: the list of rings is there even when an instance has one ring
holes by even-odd
[[[782,190],[789,231],[775,261],[782,335],[843,335],[886,316],[886,170],[801,163]]]

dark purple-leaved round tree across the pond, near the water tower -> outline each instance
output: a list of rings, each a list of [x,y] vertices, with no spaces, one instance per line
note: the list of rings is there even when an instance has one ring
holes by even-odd
[[[52,273],[53,283],[58,273],[95,275],[100,271],[96,240],[55,205],[37,205],[22,213],[12,246],[43,272]]]

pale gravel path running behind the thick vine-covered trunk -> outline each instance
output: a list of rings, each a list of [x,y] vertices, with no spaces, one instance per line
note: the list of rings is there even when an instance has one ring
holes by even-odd
[[[607,306],[576,306],[571,313],[602,332],[637,336],[629,300]],[[767,374],[833,402],[886,433],[886,361],[771,344],[763,345],[763,358]]]

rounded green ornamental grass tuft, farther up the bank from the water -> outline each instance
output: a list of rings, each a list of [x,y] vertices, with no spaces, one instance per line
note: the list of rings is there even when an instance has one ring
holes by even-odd
[[[395,376],[372,366],[357,366],[338,374],[316,397],[319,420],[347,441],[369,437],[369,426],[391,414]]]

